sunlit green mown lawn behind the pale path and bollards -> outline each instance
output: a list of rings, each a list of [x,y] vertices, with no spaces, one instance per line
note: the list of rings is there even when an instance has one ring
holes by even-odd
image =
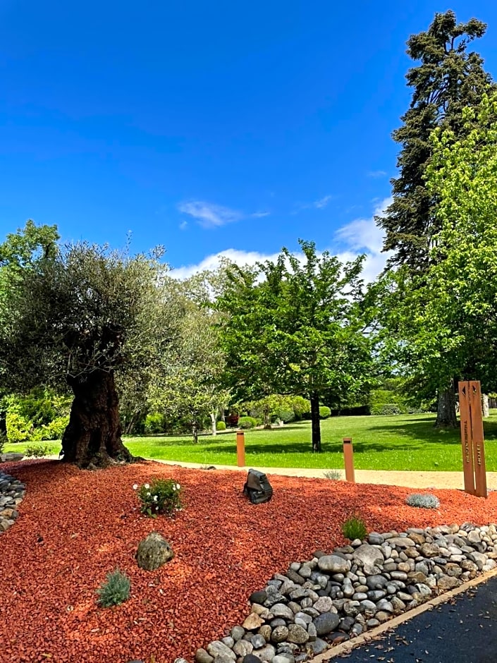
[[[434,415],[338,417],[321,422],[323,453],[312,454],[310,422],[273,430],[245,432],[247,466],[343,468],[342,439],[352,437],[355,468],[360,470],[462,470],[459,431],[438,431]],[[485,421],[486,469],[497,471],[497,410]],[[58,442],[49,443],[59,453]],[[125,439],[135,456],[188,461],[205,465],[235,465],[233,431],[192,438],[133,437]],[[23,451],[26,444],[7,444],[4,451]]]

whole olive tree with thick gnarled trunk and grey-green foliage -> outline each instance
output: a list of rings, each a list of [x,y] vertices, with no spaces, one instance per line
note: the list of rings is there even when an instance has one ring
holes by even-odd
[[[78,243],[43,252],[29,269],[3,272],[0,381],[21,393],[73,391],[66,461],[92,467],[131,459],[121,442],[115,376],[150,370],[176,334],[163,271],[159,255]]]

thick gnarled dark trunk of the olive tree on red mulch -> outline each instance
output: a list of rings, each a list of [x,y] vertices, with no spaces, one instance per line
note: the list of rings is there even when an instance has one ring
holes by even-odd
[[[95,370],[68,379],[74,392],[62,437],[63,460],[79,468],[104,468],[133,460],[121,441],[119,398],[113,373]]]

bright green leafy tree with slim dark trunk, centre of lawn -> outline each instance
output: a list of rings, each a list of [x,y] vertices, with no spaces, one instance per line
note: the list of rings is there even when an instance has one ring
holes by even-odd
[[[362,257],[342,264],[312,242],[302,260],[286,248],[257,269],[232,267],[218,308],[226,379],[238,401],[271,394],[311,402],[312,448],[321,450],[319,398],[362,388],[371,374],[362,316]]]

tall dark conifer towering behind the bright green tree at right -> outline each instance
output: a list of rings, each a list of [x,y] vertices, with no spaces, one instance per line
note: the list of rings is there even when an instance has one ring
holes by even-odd
[[[462,109],[476,107],[493,83],[484,71],[479,54],[467,45],[482,37],[486,24],[476,18],[457,23],[455,13],[436,13],[427,32],[412,35],[407,54],[421,64],[406,75],[413,88],[410,108],[402,116],[403,126],[393,132],[401,145],[393,178],[393,202],[376,222],[385,231],[384,250],[393,251],[389,263],[406,265],[419,274],[429,267],[433,238],[441,230],[436,216],[436,195],[426,183],[427,166],[432,154],[431,133],[438,126],[465,132]],[[436,425],[455,427],[454,384],[438,394]]]

